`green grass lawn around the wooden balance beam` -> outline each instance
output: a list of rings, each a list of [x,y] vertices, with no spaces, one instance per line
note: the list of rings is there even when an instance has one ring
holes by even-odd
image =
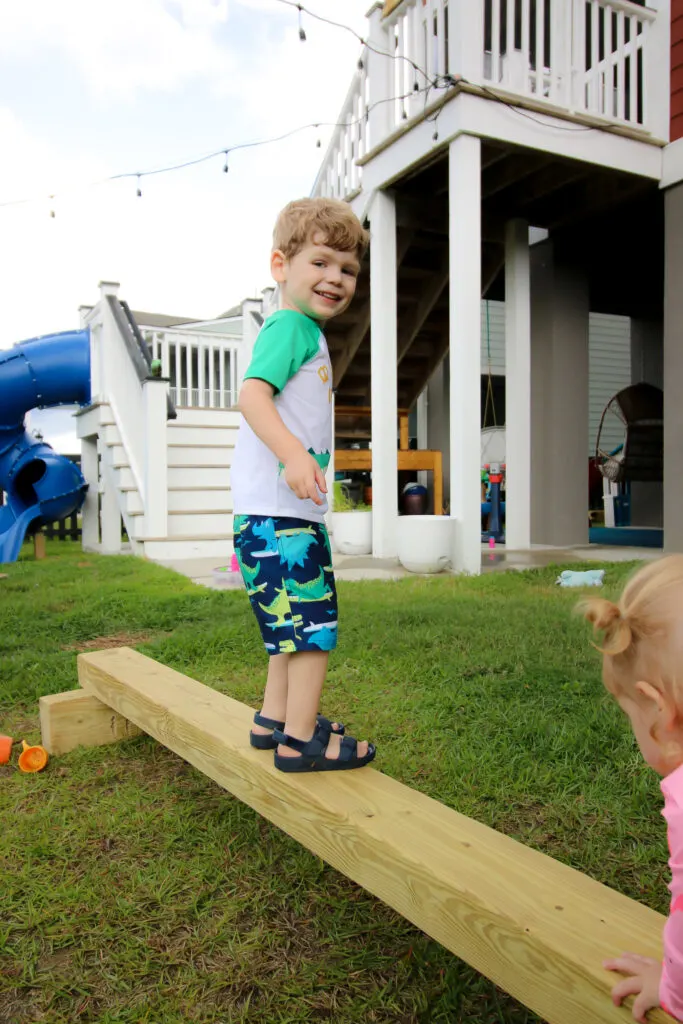
[[[257,707],[243,593],[25,550],[0,580],[0,732],[39,739],[38,697],[113,642]],[[323,710],[381,771],[666,911],[657,779],[556,575],[341,584]],[[0,766],[0,1024],[537,1020],[146,737]]]

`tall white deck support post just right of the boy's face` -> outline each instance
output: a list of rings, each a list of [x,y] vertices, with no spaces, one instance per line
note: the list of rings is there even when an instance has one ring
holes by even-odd
[[[373,554],[394,558],[398,517],[396,201],[377,191],[370,208]]]

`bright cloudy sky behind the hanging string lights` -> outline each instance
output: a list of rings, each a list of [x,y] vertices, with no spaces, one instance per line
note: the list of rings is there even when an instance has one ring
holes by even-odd
[[[303,6],[367,32],[371,0]],[[198,319],[270,283],[275,216],[310,194],[331,127],[228,155],[227,173],[221,154],[101,182],[334,123],[360,44],[301,19],[305,42],[279,0],[0,0],[0,349],[79,327],[100,281]],[[79,451],[70,411],[31,427]]]

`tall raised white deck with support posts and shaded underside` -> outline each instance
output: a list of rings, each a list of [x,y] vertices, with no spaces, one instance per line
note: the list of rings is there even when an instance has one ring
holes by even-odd
[[[479,570],[482,298],[506,300],[509,546],[588,540],[589,331],[608,317],[634,380],[664,365],[665,545],[683,550],[682,30],[683,0],[371,9],[313,190],[372,232],[329,340],[338,402],[372,407],[376,555],[396,553],[397,410],[447,354],[455,564]]]

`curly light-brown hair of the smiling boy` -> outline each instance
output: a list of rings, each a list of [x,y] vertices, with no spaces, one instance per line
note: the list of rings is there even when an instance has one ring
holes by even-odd
[[[281,212],[272,232],[272,248],[292,259],[314,234],[323,244],[343,253],[354,253],[362,260],[370,244],[365,229],[348,203],[338,199],[297,199]]]

